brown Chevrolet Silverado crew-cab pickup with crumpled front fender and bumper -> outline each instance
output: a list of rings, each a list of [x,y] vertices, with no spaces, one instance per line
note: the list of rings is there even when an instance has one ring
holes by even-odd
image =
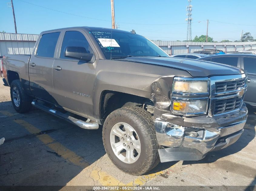
[[[17,112],[33,105],[84,129],[103,125],[109,158],[133,175],[226,148],[248,115],[242,69],[170,58],[134,30],[45,31],[32,55],[5,55],[3,69]]]

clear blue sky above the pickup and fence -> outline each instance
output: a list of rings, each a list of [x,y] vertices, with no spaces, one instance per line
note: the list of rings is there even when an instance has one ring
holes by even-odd
[[[11,0],[1,0],[0,31],[15,33]],[[91,26],[111,28],[110,0],[13,0],[18,33]],[[186,40],[188,0],[115,0],[115,22],[121,30],[151,40]],[[256,0],[192,0],[192,39],[240,40],[242,30],[256,39]]]

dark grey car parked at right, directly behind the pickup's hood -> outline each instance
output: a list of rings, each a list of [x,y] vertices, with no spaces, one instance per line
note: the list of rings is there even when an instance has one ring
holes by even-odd
[[[244,69],[244,71],[248,75],[248,89],[244,97],[244,102],[253,107],[256,107],[256,98],[254,96],[256,91],[256,55],[250,55],[250,54],[213,55],[213,56],[200,58],[200,60],[228,64],[231,66]]]

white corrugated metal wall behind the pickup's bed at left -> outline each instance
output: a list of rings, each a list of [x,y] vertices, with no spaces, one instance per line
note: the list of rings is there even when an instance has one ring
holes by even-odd
[[[0,56],[32,54],[38,34],[0,33]]]

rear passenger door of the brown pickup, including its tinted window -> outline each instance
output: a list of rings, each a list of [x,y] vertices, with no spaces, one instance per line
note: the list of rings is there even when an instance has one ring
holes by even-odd
[[[32,94],[54,103],[52,97],[52,65],[57,53],[60,31],[45,32],[39,36],[28,64],[29,85]]]

